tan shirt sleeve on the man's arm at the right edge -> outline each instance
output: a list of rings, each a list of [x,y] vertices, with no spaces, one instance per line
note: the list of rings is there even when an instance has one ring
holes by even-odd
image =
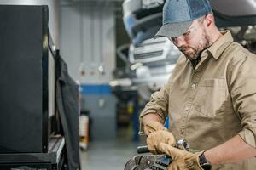
[[[256,148],[256,57],[244,54],[232,65],[230,93],[234,109],[241,118],[238,133],[247,144]]]

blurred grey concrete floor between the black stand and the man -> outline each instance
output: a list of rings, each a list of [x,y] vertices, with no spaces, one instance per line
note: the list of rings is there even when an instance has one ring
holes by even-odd
[[[90,142],[88,150],[81,152],[82,170],[123,170],[126,161],[137,155],[137,146],[145,139],[132,142],[131,135],[122,130],[117,139]]]

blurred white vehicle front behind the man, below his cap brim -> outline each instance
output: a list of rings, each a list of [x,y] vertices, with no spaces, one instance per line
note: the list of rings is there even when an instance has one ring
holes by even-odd
[[[166,37],[145,40],[137,47],[131,44],[128,57],[136,75],[131,82],[144,100],[166,82],[180,54]]]

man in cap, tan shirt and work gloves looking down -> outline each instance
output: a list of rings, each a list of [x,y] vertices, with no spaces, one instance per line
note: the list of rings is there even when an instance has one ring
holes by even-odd
[[[172,156],[168,170],[256,169],[255,55],[218,31],[207,0],[167,0],[156,36],[183,55],[141,113],[149,150]],[[172,147],[177,139],[200,151]]]

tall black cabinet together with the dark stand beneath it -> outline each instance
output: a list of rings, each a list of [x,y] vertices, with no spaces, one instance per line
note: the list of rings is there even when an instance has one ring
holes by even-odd
[[[56,105],[60,56],[48,14],[47,6],[0,5],[1,170],[79,167],[78,158],[67,161],[71,144]]]

